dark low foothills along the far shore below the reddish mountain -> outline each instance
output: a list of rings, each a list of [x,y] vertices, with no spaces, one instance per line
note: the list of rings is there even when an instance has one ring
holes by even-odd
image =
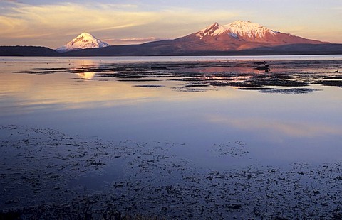
[[[342,44],[293,44],[248,50],[182,50],[183,45],[157,41],[141,45],[75,50],[65,56],[191,56],[191,55],[332,55],[342,54]]]

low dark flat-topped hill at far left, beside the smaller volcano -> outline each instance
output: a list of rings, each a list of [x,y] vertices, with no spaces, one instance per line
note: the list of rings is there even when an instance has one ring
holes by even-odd
[[[0,56],[58,56],[56,50],[35,46],[0,46]]]

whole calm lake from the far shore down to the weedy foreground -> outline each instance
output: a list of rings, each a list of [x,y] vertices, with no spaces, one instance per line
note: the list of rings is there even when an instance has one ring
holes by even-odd
[[[341,208],[341,55],[0,65],[1,207],[87,189],[122,211],[175,218]]]

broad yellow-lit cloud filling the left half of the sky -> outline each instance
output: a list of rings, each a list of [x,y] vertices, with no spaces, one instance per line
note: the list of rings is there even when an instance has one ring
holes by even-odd
[[[1,37],[36,38],[44,35],[103,31],[139,26],[155,21],[153,12],[134,11],[135,6],[73,4],[33,6],[16,4],[0,15]]]

